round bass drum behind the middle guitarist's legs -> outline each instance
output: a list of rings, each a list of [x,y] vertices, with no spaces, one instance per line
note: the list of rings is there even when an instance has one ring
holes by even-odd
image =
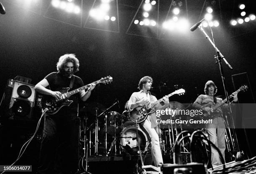
[[[144,151],[149,143],[149,136],[141,128],[138,128],[137,141],[136,129],[136,126],[129,126],[120,133],[121,148],[128,154],[138,154],[138,143],[140,144],[141,151]]]

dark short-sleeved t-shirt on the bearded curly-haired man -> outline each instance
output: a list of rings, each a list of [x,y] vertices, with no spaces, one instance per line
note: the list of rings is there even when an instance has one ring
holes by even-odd
[[[60,72],[52,72],[44,78],[48,81],[49,88],[52,91],[59,91],[62,88],[69,87],[70,80],[71,80],[71,78],[65,77]],[[80,77],[77,77],[74,75],[74,85],[73,85],[72,89],[69,90],[69,92],[72,90],[75,90],[79,87],[82,87],[82,86],[84,86],[82,79]],[[78,105],[79,98],[80,98],[79,92],[77,94],[74,94],[71,97],[69,97],[69,100],[74,101],[67,108],[69,111],[77,112],[77,105]],[[61,110],[62,109],[66,109],[66,108],[62,107]]]

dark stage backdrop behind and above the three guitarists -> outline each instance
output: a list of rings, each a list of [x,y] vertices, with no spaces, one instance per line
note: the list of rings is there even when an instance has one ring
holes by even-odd
[[[240,2],[244,2],[250,12],[256,9],[254,1],[216,1],[215,18],[220,20],[220,26],[212,30],[216,46],[233,67],[230,70],[223,62],[229,94],[241,86],[237,84],[236,89],[233,88],[231,75],[247,72],[251,86],[246,96],[250,97],[249,102],[253,102],[251,92],[255,95],[256,90],[256,23],[250,21],[236,27],[229,23],[231,18],[237,18]],[[98,85],[87,103],[99,102],[109,107],[118,99],[121,108],[113,108],[118,112],[123,112],[125,102],[132,92],[137,91],[139,80],[146,75],[154,79],[152,92],[157,98],[173,92],[174,85],[178,84],[187,93],[183,97],[170,98],[170,101],[194,102],[210,79],[218,86],[217,95],[224,95],[219,67],[214,59],[215,50],[199,29],[194,32],[188,30],[182,36],[162,33],[158,38],[129,34],[136,32],[131,31],[134,27],[126,33],[140,1],[119,1],[119,32],[72,26],[46,18],[48,0],[41,1],[39,14],[15,4],[15,0],[3,0],[2,3],[7,13],[0,15],[1,94],[8,79],[20,75],[31,78],[31,83],[36,84],[56,71],[56,62],[61,55],[74,53],[80,61],[80,71],[76,75],[83,79],[84,84],[107,75],[113,77],[111,84]],[[84,10],[91,3],[84,1]],[[187,13],[190,26],[203,18],[200,15],[203,4],[199,0],[187,3],[184,14]],[[163,0],[160,5],[159,20],[164,21],[170,1]],[[87,15],[88,12],[84,11],[82,26]],[[205,28],[205,31],[210,36],[210,30]],[[165,87],[159,87],[164,83]],[[241,96],[239,93],[238,97]]]

